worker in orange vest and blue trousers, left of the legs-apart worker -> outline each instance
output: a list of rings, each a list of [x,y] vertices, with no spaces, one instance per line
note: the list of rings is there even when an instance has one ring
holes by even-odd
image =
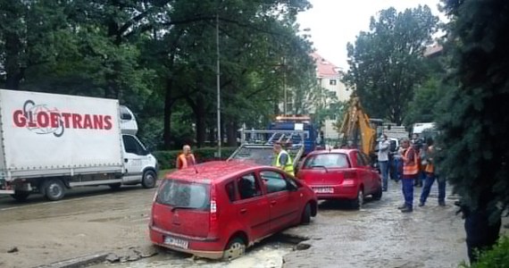
[[[416,152],[410,146],[408,138],[403,139],[402,146],[404,152],[401,157],[403,161],[403,179],[401,181],[405,205],[401,205],[398,208],[401,209],[402,213],[411,213],[413,212],[413,180],[419,175],[419,164],[416,162]]]

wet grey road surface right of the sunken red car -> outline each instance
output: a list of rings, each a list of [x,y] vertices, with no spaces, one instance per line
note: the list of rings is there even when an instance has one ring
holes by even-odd
[[[397,209],[403,197],[394,181],[380,201],[368,201],[360,211],[322,204],[313,225],[288,230],[307,234],[311,247],[285,255],[284,267],[457,267],[467,255],[455,197],[438,206],[435,185],[427,204],[418,207],[420,194],[414,188],[410,214]]]

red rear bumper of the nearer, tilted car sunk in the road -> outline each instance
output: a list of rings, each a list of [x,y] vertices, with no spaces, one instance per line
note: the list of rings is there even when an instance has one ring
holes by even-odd
[[[154,245],[167,247],[175,251],[184,252],[209,259],[220,259],[224,252],[224,242],[221,239],[204,239],[181,236],[154,226],[148,227],[150,240]],[[172,237],[188,241],[188,248],[175,247],[164,243],[164,237]]]

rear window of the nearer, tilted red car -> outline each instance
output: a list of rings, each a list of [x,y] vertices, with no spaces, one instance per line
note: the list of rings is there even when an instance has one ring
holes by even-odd
[[[163,180],[156,202],[178,208],[206,209],[210,204],[210,185],[184,180]]]

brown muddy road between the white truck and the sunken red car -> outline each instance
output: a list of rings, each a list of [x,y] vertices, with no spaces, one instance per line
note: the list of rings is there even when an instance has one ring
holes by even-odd
[[[0,266],[34,267],[79,255],[148,247],[146,223],[154,189],[80,188],[63,200],[0,198]],[[17,252],[7,253],[17,248]]]

